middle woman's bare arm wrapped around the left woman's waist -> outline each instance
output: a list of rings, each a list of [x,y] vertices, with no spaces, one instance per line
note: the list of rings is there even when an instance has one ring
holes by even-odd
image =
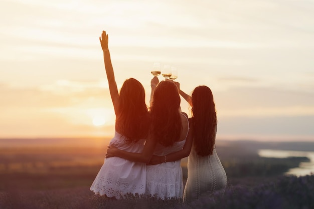
[[[133,162],[148,163],[149,160],[151,159],[155,146],[156,146],[156,140],[153,140],[149,137],[146,140],[142,153],[127,152],[124,150],[120,150],[116,148],[115,146],[108,146],[106,158],[120,157],[120,158],[124,158]]]

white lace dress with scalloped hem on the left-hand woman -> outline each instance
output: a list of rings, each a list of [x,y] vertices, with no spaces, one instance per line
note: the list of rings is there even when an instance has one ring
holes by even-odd
[[[125,136],[115,131],[110,145],[128,152],[142,152],[145,140],[141,139],[136,143],[128,144]],[[95,194],[123,198],[126,193],[145,193],[146,165],[145,163],[132,162],[119,157],[105,159],[90,190]]]

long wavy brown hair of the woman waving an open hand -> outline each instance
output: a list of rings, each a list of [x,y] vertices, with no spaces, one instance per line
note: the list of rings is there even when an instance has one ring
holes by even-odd
[[[130,143],[146,138],[150,117],[145,103],[145,90],[134,78],[124,81],[119,94],[115,129]]]

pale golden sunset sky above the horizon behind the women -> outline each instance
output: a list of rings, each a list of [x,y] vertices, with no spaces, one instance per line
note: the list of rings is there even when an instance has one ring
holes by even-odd
[[[0,29],[0,138],[113,135],[105,30],[118,88],[136,78],[147,104],[160,62],[212,89],[217,138],[314,141],[312,0],[2,0]]]

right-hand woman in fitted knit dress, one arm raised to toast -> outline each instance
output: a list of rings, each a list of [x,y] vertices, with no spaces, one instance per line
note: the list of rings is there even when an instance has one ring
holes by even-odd
[[[177,83],[177,82],[176,82]],[[177,83],[180,89],[180,84]],[[227,185],[226,172],[215,149],[217,116],[212,91],[207,86],[198,86],[192,97],[182,90],[180,94],[192,106],[192,118],[189,118],[193,135],[192,149],[186,146],[179,152],[167,155],[169,160],[188,158],[188,179],[184,189],[183,200],[190,202],[201,195],[217,190],[224,190]],[[153,156],[152,164],[159,163],[159,157]]]

